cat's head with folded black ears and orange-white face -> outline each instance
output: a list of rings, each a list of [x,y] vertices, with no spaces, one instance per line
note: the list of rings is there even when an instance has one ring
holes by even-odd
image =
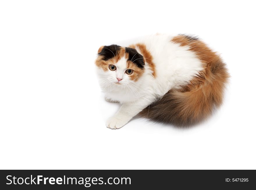
[[[145,58],[136,49],[114,44],[99,48],[95,64],[102,81],[111,85],[136,82],[145,70]]]

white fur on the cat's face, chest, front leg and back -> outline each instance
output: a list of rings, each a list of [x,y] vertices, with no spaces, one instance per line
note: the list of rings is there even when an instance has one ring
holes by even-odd
[[[134,82],[125,73],[126,61],[123,57],[116,63],[115,71],[98,69],[100,83],[108,101],[120,102],[119,111],[106,123],[111,129],[124,126],[145,107],[157,101],[170,89],[179,89],[202,70],[202,63],[189,47],[171,42],[173,36],[147,36],[138,43],[144,43],[155,64],[156,78],[145,63],[143,75]],[[141,54],[139,49],[136,49]],[[117,78],[123,78],[117,84]]]

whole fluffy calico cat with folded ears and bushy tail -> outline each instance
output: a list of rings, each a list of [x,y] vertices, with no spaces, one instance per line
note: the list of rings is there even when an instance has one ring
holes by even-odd
[[[176,126],[199,123],[221,105],[229,78],[216,52],[183,34],[101,46],[95,64],[106,101],[121,104],[106,122],[111,129],[137,114]]]

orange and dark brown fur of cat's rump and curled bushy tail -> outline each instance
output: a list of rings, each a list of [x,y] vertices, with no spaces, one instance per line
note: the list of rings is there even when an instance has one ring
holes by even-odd
[[[229,78],[225,64],[204,43],[197,39],[188,39],[187,36],[182,37],[189,43],[191,50],[197,45],[198,52],[195,52],[199,58],[203,58],[201,60],[205,64],[205,69],[190,84],[180,90],[170,90],[160,100],[141,111],[142,117],[177,126],[188,126],[207,118],[221,105],[225,84]],[[208,54],[199,55],[201,52],[205,53],[205,48],[209,51]]]

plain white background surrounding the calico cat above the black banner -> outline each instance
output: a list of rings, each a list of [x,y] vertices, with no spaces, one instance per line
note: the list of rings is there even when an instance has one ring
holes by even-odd
[[[0,169],[256,169],[255,6],[250,1],[1,1]],[[223,107],[189,129],[118,109],[95,74],[101,45],[196,34],[232,78]]]

